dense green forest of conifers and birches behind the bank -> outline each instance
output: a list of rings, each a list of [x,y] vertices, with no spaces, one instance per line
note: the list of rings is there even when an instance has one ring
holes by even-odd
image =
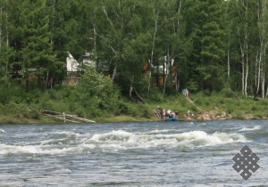
[[[1,0],[0,102],[60,89],[68,52],[96,62],[72,89],[102,107],[111,94],[143,102],[185,87],[265,99],[267,9],[266,0]]]

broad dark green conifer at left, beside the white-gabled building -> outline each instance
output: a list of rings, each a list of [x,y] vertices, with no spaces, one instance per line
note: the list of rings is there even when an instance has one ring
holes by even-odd
[[[46,0],[13,2],[13,12],[13,69],[22,71],[26,91],[29,90],[29,73],[38,77],[39,86],[42,79],[45,87],[52,86],[57,67]]]

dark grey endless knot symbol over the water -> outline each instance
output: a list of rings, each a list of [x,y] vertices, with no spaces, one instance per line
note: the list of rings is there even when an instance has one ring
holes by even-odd
[[[252,175],[249,170],[255,173],[255,171],[260,167],[257,165],[257,161],[259,158],[255,155],[255,153],[252,153],[252,150],[250,150],[247,145],[240,150],[243,156],[241,156],[239,153],[232,158],[236,163],[232,166],[238,173],[242,170],[242,173],[240,174],[246,181],[247,179]]]

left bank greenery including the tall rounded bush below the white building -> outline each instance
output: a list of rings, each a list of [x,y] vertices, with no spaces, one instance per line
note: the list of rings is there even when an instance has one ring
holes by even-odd
[[[150,117],[146,104],[134,104],[122,97],[119,87],[113,85],[111,78],[97,73],[95,69],[88,69],[76,86],[56,85],[53,90],[33,89],[25,92],[20,85],[1,85],[1,90],[1,123],[54,122],[54,119],[43,118],[40,110],[99,120],[120,115]]]

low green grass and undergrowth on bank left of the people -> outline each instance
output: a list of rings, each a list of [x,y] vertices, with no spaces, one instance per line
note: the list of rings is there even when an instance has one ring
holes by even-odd
[[[76,86],[59,86],[52,91],[32,90],[25,93],[22,87],[8,87],[0,92],[0,123],[31,124],[63,122],[47,118],[40,110],[53,110],[96,121],[128,121],[150,118],[147,104],[118,98],[106,102],[86,95]],[[109,100],[108,99],[108,100]],[[113,99],[113,98],[112,98]]]

